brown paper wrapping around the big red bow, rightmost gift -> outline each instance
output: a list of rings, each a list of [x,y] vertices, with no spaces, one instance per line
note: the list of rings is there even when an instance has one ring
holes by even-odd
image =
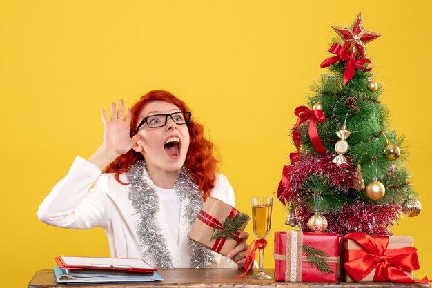
[[[387,246],[386,251],[391,249],[400,249],[404,247],[413,247],[413,238],[411,236],[390,236],[389,237],[389,245]],[[361,250],[362,247],[355,243],[355,241],[351,239],[343,239],[341,243],[341,262],[342,262],[342,280],[346,282],[355,282],[355,280],[348,274],[346,269],[344,269],[344,263],[353,260],[353,256],[349,254],[349,251],[353,250]],[[364,278],[360,280],[360,282],[374,282],[376,269],[372,269],[371,272]],[[413,278],[412,271],[402,270],[404,273],[409,276],[409,278]]]

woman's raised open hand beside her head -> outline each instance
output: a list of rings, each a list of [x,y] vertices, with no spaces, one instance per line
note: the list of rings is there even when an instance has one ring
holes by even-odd
[[[88,161],[95,164],[99,169],[103,170],[112,161],[121,154],[128,152],[137,141],[139,135],[130,138],[130,121],[132,112],[126,110],[124,116],[124,101],[119,100],[119,110],[117,111],[114,102],[110,107],[110,119],[106,116],[106,112],[102,109],[102,122],[104,123],[104,142],[101,147],[90,156]]]

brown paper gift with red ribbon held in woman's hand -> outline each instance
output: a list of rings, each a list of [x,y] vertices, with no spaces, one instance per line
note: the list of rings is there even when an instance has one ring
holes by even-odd
[[[237,245],[239,238],[235,236],[234,238],[210,239],[214,231],[222,230],[222,223],[224,223],[226,218],[233,218],[241,214],[241,212],[231,205],[216,198],[208,197],[197,216],[197,220],[190,227],[188,238],[226,256]],[[236,235],[243,232],[247,224],[248,221],[237,230]]]

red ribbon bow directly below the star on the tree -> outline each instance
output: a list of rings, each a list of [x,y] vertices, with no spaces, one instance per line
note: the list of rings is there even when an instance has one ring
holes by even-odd
[[[348,43],[348,45],[349,45],[349,42],[346,42],[346,43]],[[346,82],[348,82],[349,79],[353,78],[355,68],[360,69],[364,72],[371,71],[371,69],[372,69],[371,60],[366,59],[366,58],[355,59],[355,55],[349,54],[348,51],[346,50],[346,48],[345,48],[345,46],[347,45],[346,43],[345,43],[344,47],[342,47],[341,45],[339,45],[337,43],[333,43],[333,45],[331,45],[331,48],[328,51],[332,52],[333,54],[336,54],[337,56],[327,58],[320,65],[321,68],[326,68],[330,65],[333,65],[334,63],[346,60],[346,68],[345,68],[345,72],[344,72],[344,85],[346,84]],[[364,63],[371,64],[371,67],[364,68],[363,67]]]

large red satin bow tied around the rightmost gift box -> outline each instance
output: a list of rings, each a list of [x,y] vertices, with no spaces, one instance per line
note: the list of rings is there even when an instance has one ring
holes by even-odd
[[[413,247],[387,249],[388,236],[372,237],[362,232],[347,234],[341,242],[346,239],[355,241],[363,248],[346,251],[348,261],[344,264],[344,268],[355,281],[359,282],[375,269],[373,282],[431,282],[427,276],[422,280],[415,281],[403,271],[413,271],[420,268],[417,249]]]

